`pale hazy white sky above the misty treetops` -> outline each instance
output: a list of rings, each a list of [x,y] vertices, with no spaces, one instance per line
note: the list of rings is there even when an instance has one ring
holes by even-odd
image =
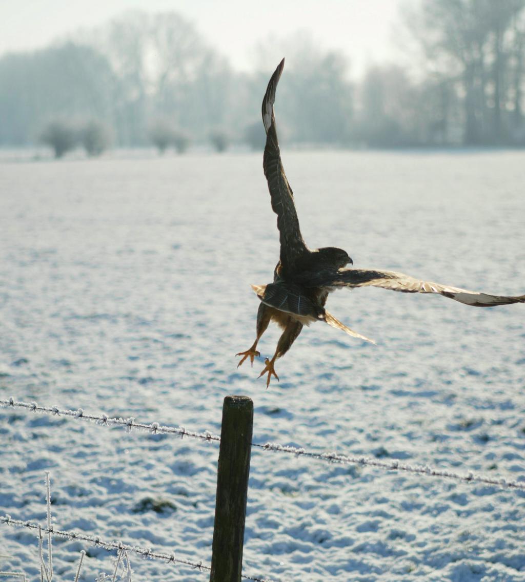
[[[42,47],[80,27],[102,24],[128,9],[176,10],[237,69],[252,64],[252,48],[270,33],[309,29],[337,48],[359,74],[369,61],[392,55],[392,24],[402,0],[0,0],[0,54]]]

